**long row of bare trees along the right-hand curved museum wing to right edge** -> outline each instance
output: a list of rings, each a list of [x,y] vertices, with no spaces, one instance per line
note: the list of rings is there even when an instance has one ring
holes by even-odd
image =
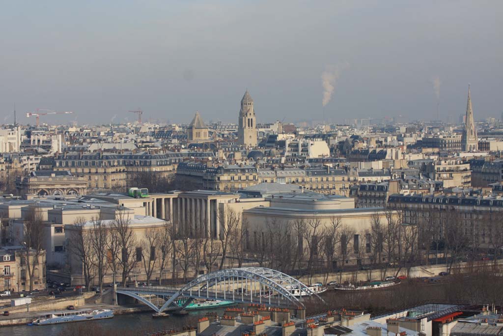
[[[431,263],[432,255],[434,262],[446,262],[448,271],[458,261],[480,260],[481,253],[488,252],[494,254],[495,265],[503,248],[503,223],[497,213],[471,215],[453,209],[386,209],[374,213],[363,231],[339,217],[329,223],[272,218],[261,230],[247,232],[246,223],[242,229],[246,239],[253,235],[244,246],[261,266],[310,276],[337,270],[340,280],[347,268],[355,278],[362,269],[368,278],[375,270],[385,277],[389,267],[395,276],[404,269],[408,274],[413,265]]]

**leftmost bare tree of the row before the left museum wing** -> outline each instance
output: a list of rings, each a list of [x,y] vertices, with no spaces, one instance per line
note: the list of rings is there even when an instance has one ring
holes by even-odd
[[[70,252],[81,262],[84,283],[89,291],[93,278],[95,254],[90,230],[85,229],[86,222],[86,219],[83,217],[78,217],[73,221],[75,230],[72,231],[72,235],[70,236]]]

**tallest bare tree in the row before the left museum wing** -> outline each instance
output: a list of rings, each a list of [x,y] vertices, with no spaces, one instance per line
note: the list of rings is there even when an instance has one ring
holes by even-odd
[[[121,283],[124,287],[126,286],[127,277],[130,275],[137,262],[137,255],[135,253],[136,238],[130,227],[130,223],[131,220],[126,212],[123,209],[118,209],[116,218],[112,222],[112,228],[116,231],[119,240],[119,249],[121,253],[119,264],[121,265],[122,271]]]

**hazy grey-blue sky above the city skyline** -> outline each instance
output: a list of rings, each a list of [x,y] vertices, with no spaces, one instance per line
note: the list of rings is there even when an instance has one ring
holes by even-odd
[[[0,123],[14,102],[20,122],[237,121],[246,88],[258,122],[321,119],[324,71],[332,121],[435,118],[435,81],[444,120],[468,83],[476,119],[503,112],[500,0],[0,0],[0,32]]]

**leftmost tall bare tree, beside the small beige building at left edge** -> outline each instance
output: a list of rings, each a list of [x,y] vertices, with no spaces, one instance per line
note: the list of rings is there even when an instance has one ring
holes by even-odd
[[[18,238],[20,238],[21,245],[26,254],[28,276],[30,277],[30,291],[33,291],[33,278],[35,269],[39,265],[39,257],[42,253],[44,240],[44,222],[38,207],[30,206],[28,209],[24,223],[23,238]],[[31,258],[30,255],[32,256]]]

